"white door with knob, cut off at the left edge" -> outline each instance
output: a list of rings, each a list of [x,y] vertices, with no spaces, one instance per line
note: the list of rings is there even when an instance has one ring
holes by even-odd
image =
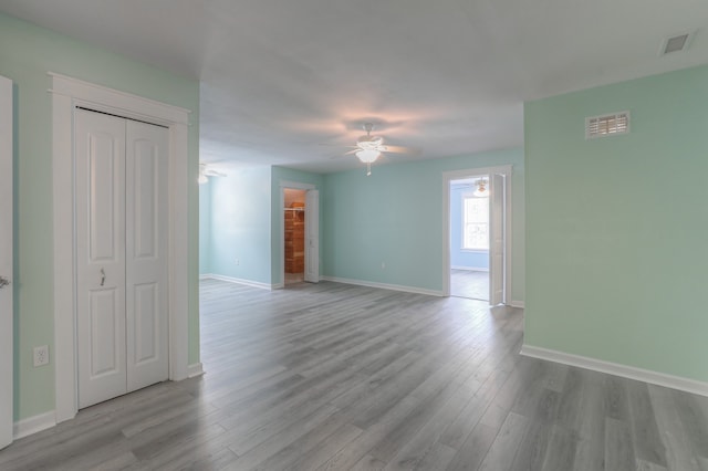
[[[12,213],[13,109],[12,81],[0,76],[0,276],[12,282],[14,216]],[[9,221],[9,224],[7,223]],[[12,442],[14,422],[14,285],[0,287],[0,449]]]

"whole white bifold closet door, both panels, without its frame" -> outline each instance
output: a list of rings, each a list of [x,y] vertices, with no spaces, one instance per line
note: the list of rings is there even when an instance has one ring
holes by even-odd
[[[79,407],[168,378],[166,128],[75,111]]]

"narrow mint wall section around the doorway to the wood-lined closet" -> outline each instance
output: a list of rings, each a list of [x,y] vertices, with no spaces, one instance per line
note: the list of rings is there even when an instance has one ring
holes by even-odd
[[[320,174],[293,170],[284,167],[272,167],[271,174],[271,283],[278,285],[283,282],[281,273],[281,260],[283,258],[283,247],[281,245],[281,227],[283,223],[283,211],[280,207],[280,184],[281,181],[294,181],[298,184],[314,185],[315,189],[322,191],[324,177]],[[322,274],[322,203],[320,203],[320,274]]]

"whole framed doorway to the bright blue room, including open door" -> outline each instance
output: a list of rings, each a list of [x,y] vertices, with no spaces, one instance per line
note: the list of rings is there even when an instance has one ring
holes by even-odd
[[[511,166],[444,174],[445,295],[507,303],[510,176]]]

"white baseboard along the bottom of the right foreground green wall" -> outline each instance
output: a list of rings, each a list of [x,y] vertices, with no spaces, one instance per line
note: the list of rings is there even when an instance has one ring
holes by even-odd
[[[667,388],[678,389],[700,396],[708,396],[708,383],[683,378],[680,376],[666,375],[664,373],[652,371],[649,369],[642,369],[634,366],[603,362],[595,358],[534,347],[525,344],[521,347],[520,353],[521,355],[530,356],[533,358],[548,359],[550,362],[577,366],[580,368],[592,369],[594,371],[607,373],[610,375],[622,376],[624,378],[636,379],[658,386],[665,386]]]

